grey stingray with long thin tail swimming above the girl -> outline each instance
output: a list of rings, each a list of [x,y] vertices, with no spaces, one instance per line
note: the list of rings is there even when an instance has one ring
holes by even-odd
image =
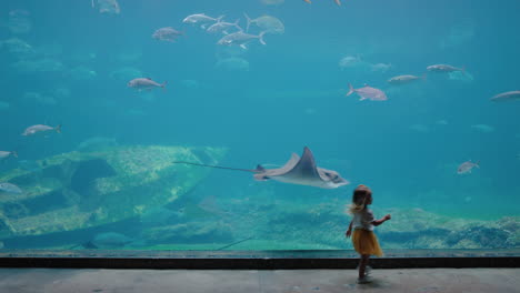
[[[277,169],[266,169],[262,165],[258,165],[257,169],[238,169],[183,161],[177,161],[174,163],[246,171],[254,173],[253,178],[258,181],[267,181],[272,179],[284,183],[309,185],[321,189],[337,189],[350,183],[349,181],[341,178],[338,172],[319,168],[316,164],[314,155],[307,146],[303,148],[303,154],[301,158],[298,154],[292,153],[291,159],[289,159],[289,161],[283,166]]]

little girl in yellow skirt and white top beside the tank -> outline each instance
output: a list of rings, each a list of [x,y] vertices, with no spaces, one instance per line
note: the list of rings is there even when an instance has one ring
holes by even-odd
[[[382,256],[378,238],[373,233],[373,226],[378,226],[391,219],[390,214],[387,214],[380,220],[374,220],[372,211],[367,209],[367,205],[371,203],[372,191],[366,185],[359,185],[352,195],[352,204],[349,208],[349,212],[353,214],[353,219],[346,233],[347,238],[350,238],[353,228],[352,244],[360,254],[358,284],[369,283],[366,269],[370,255]]]

